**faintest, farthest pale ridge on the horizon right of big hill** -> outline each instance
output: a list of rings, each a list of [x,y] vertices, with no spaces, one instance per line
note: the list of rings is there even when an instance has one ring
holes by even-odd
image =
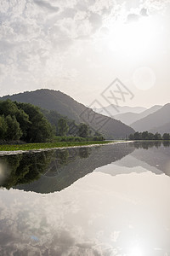
[[[128,106],[116,107],[115,105],[109,105],[105,108],[97,108],[95,112],[104,114],[106,116],[114,117],[116,114],[127,113],[127,112],[141,113],[144,110],[146,110],[146,108],[144,107],[128,107]]]

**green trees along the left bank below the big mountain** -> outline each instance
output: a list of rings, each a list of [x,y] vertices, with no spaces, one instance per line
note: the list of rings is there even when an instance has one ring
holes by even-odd
[[[74,120],[63,118],[56,111],[42,110],[30,103],[0,102],[0,143],[42,143],[54,140],[54,136],[62,137],[61,141],[105,139],[88,125],[77,125]]]

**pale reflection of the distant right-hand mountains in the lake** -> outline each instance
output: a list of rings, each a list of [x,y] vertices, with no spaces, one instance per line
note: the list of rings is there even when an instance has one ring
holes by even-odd
[[[133,143],[136,148],[131,154],[127,154],[113,165],[98,168],[96,172],[103,172],[116,176],[132,172],[142,173],[150,171],[156,175],[165,173],[170,176],[170,143]]]

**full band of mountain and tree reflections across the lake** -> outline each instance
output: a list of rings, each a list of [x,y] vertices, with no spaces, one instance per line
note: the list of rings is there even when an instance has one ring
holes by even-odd
[[[1,185],[50,193],[65,189],[95,169],[111,176],[146,170],[170,176],[170,147],[169,143],[166,145],[167,148],[161,143],[118,143],[3,156],[0,167],[6,170],[7,177]]]

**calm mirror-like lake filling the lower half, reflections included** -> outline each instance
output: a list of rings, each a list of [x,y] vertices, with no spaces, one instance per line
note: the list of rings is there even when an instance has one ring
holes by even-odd
[[[169,143],[0,156],[0,255],[170,256]]]

